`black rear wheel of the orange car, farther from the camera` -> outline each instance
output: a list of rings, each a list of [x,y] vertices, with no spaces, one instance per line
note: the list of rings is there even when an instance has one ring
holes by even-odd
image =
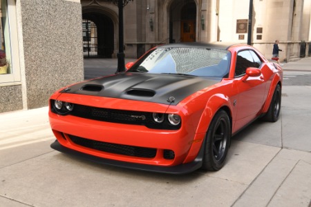
[[[278,121],[281,112],[281,86],[277,85],[269,106],[269,110],[263,117],[265,121],[275,122]]]

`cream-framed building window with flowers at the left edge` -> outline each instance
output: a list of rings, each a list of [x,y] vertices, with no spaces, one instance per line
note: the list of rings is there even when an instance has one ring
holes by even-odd
[[[21,81],[15,3],[15,0],[0,0],[0,66],[3,62],[8,63],[6,72],[0,72],[0,86],[20,84]]]

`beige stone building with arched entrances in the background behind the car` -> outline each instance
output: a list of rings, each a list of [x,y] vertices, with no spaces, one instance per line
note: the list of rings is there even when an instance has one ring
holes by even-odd
[[[107,0],[81,3],[83,19],[94,21],[99,27],[104,27],[100,19],[111,21],[104,31],[112,35],[110,42],[113,42],[107,57],[115,57],[117,7]],[[272,57],[272,46],[278,39],[279,48],[283,49],[280,60],[295,61],[301,57],[301,44],[308,56],[310,9],[310,0],[254,0],[252,27],[248,28],[249,0],[134,0],[124,7],[124,49],[126,57],[136,58],[161,43],[247,43],[251,30],[252,45],[266,57]],[[98,32],[98,41],[101,37]]]

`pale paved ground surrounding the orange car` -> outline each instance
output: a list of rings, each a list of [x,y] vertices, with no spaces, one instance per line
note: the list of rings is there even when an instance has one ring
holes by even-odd
[[[108,72],[102,61],[115,71],[115,59],[88,59],[86,79],[89,70]],[[176,176],[88,163],[50,148],[47,107],[2,113],[0,206],[310,207],[311,57],[283,68],[279,121],[255,121],[233,137],[218,172]]]

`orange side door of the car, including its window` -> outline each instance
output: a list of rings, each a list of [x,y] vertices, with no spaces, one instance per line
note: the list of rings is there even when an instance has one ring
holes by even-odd
[[[245,76],[246,69],[249,67],[261,68],[262,61],[253,50],[242,50],[238,52],[236,57],[234,87],[238,90],[236,100],[236,125],[234,128],[238,130],[245,124],[252,121],[263,107],[263,99],[265,96],[265,81],[263,76],[248,77],[246,81],[242,81]]]

